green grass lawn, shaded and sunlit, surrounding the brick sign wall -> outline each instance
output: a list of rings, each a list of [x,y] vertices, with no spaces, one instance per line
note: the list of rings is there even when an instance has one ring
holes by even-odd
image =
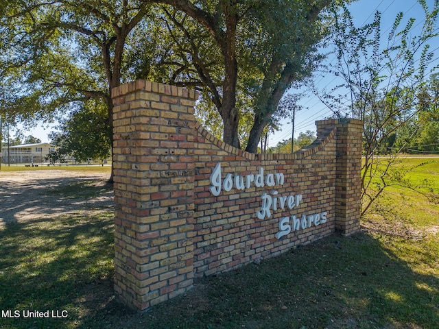
[[[434,161],[410,180],[427,178],[439,194]],[[362,228],[197,280],[187,294],[138,314],[112,295],[111,212],[14,223],[0,229],[0,310],[68,317],[0,318],[0,328],[439,328],[438,205],[393,186]]]

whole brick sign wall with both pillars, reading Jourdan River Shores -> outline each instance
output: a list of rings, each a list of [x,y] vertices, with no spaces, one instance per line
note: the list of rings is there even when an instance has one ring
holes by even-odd
[[[315,143],[294,154],[249,154],[195,121],[193,90],[137,80],[112,98],[115,291],[128,306],[146,310],[193,278],[359,230],[361,121],[317,121]]]

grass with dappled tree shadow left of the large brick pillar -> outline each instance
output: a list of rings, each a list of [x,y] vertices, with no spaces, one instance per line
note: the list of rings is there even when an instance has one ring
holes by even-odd
[[[2,316],[0,327],[75,328],[111,300],[112,219],[102,212],[8,223],[0,230],[0,310],[20,314]],[[68,317],[25,318],[34,310],[67,310]]]

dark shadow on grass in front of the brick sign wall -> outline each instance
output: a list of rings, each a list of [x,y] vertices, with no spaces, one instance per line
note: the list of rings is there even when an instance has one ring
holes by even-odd
[[[81,327],[433,329],[438,289],[438,276],[416,273],[361,233],[198,280],[189,293],[141,315],[122,315],[113,301],[108,313],[85,318]]]

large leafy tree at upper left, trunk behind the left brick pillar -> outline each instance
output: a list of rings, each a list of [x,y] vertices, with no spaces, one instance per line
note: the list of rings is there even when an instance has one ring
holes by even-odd
[[[13,119],[51,119],[97,99],[106,103],[111,131],[110,91],[130,79],[124,54],[149,8],[129,0],[3,3],[3,110]]]

